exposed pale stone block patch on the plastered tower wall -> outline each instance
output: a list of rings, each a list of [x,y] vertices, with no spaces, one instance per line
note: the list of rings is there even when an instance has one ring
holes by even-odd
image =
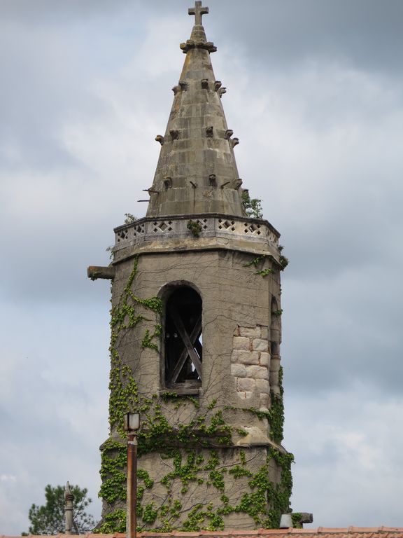
[[[241,400],[257,392],[260,408],[269,406],[269,330],[267,326],[236,326],[231,354],[231,374]]]

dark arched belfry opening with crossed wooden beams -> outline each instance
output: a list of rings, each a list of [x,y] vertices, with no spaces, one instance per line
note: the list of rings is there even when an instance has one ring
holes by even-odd
[[[181,286],[169,296],[165,311],[165,385],[178,392],[201,386],[201,297]]]

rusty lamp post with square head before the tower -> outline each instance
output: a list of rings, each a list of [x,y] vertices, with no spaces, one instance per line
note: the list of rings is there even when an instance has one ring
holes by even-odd
[[[140,427],[139,413],[126,413],[127,432],[127,538],[136,538],[137,527],[137,430]]]

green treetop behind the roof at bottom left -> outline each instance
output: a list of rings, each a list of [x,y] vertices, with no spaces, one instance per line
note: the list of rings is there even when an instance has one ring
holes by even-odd
[[[87,488],[70,486],[73,499],[73,530],[75,534],[89,532],[95,526],[94,518],[87,513],[92,502]],[[29,534],[64,534],[64,486],[45,486],[45,504],[32,504],[28,514]]]

